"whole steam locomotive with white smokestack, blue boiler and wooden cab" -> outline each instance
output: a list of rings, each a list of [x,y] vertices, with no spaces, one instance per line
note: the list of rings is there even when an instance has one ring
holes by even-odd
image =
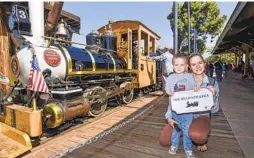
[[[14,5],[9,18],[9,29],[21,35],[13,37],[19,48],[9,52],[15,82],[10,79],[11,89],[0,102],[0,137],[11,144],[0,151],[0,157],[2,151],[4,157],[19,156],[32,148],[31,138],[58,132],[83,116],[101,116],[109,101],[128,104],[134,92],[160,89],[162,82],[160,63],[147,58],[155,52],[160,36],[143,23],[109,20],[98,33],[86,36],[86,44],[75,43],[71,41],[74,30],[63,19],[52,34],[44,36],[45,21],[38,15],[44,13],[40,10],[44,5],[30,4],[31,14]],[[29,78],[35,59],[48,93],[31,90],[36,86]]]

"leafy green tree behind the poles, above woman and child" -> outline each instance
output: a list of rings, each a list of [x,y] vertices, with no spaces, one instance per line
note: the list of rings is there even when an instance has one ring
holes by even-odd
[[[188,7],[187,2],[178,4],[178,49],[188,51],[186,39],[188,40]],[[170,20],[171,29],[174,32],[174,8],[167,16]],[[191,28],[195,28],[198,33],[198,50],[203,54],[206,50],[206,40],[211,36],[213,40],[222,30],[227,16],[220,16],[220,9],[216,2],[191,2]],[[191,44],[193,45],[193,35],[191,35]],[[184,45],[184,46],[183,46]],[[193,47],[193,46],[192,46]],[[191,51],[193,48],[191,49]]]

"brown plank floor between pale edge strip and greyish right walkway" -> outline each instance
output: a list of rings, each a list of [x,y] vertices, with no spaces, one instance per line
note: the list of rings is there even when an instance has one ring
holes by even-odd
[[[154,158],[186,157],[182,144],[176,156],[167,154],[168,147],[158,143],[160,131],[165,124],[164,114],[168,99],[164,97],[156,106],[123,128],[65,155],[65,158]],[[182,138],[181,138],[182,139]],[[198,158],[241,158],[243,152],[234,137],[223,112],[212,117],[212,131],[208,141],[208,152],[199,152]]]

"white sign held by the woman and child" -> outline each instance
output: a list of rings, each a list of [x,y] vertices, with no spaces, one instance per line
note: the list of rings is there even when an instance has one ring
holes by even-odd
[[[199,91],[175,92],[171,97],[172,110],[177,114],[209,111],[214,105],[213,94],[206,88]]]

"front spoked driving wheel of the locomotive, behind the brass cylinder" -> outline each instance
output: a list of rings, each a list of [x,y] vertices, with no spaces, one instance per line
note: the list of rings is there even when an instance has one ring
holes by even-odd
[[[100,86],[89,88],[87,94],[91,109],[88,112],[89,116],[98,117],[103,114],[107,108],[106,90]]]

